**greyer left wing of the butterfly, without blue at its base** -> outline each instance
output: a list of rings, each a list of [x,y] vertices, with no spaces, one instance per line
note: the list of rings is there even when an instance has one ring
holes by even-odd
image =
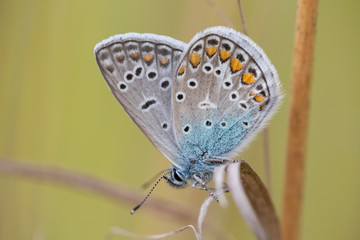
[[[170,161],[179,147],[173,130],[171,86],[185,43],[155,34],[126,33],[95,46],[100,71],[123,109]]]

